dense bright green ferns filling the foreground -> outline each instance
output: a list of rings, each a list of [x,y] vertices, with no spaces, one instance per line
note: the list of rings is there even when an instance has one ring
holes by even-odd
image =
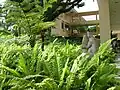
[[[0,44],[0,90],[119,90],[110,40],[91,59],[68,42],[42,51],[39,43],[31,48],[12,40]]]

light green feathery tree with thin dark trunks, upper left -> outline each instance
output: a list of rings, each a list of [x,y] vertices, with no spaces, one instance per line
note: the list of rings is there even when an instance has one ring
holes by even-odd
[[[48,2],[45,2],[45,7],[42,7],[39,1],[24,0],[20,2],[7,0],[4,5],[4,11],[7,11],[7,24],[13,27],[13,32],[16,36],[28,34],[30,36],[30,45],[35,45],[35,37],[41,34],[42,50],[44,50],[44,34],[42,31],[54,25],[53,22],[44,22],[43,14],[47,10]]]

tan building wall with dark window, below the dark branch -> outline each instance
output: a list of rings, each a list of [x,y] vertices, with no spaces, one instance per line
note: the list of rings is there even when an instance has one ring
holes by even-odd
[[[84,18],[80,18],[82,22],[85,21]],[[51,34],[54,36],[64,36],[69,37],[71,35],[72,28],[70,27],[70,23],[73,22],[72,16],[69,14],[61,14],[56,20],[55,20],[55,27],[52,28]],[[66,26],[69,26],[69,29],[66,28]]]

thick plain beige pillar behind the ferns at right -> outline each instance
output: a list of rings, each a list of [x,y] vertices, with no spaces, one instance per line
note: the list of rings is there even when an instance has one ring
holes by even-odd
[[[110,14],[109,0],[98,0],[99,6],[99,23],[100,23],[100,40],[101,43],[110,39]]]

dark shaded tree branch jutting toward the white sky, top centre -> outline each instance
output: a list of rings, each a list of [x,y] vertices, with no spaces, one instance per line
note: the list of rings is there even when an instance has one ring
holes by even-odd
[[[57,0],[52,3],[52,7],[44,13],[45,21],[52,21],[58,17],[61,13],[65,13],[73,9],[75,6],[82,7],[84,3],[82,0]]]

